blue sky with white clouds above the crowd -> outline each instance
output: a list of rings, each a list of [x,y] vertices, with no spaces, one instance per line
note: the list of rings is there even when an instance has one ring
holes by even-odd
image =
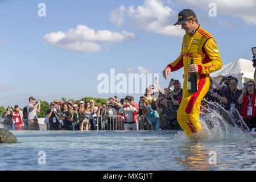
[[[217,16],[210,17],[212,2]],[[97,76],[110,76],[112,68],[127,76],[159,73],[159,85],[167,88],[162,71],[179,56],[184,32],[172,24],[183,9],[193,9],[201,27],[217,40],[223,64],[251,60],[256,2],[244,2],[0,0],[0,105],[24,106],[30,96],[48,102],[61,97],[122,98],[127,94],[98,93]],[[39,3],[46,5],[45,17],[38,16]],[[88,28],[82,37],[78,25]],[[60,36],[65,39],[56,41]],[[182,74],[180,69],[168,80],[183,83]],[[138,101],[142,94],[129,95]]]

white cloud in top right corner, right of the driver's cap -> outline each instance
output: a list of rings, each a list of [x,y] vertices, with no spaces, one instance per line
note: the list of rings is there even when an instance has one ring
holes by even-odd
[[[210,3],[215,3],[218,14],[234,16],[243,19],[245,24],[256,25],[256,1],[255,0],[179,0],[183,6],[199,7],[205,11],[209,11]]]

